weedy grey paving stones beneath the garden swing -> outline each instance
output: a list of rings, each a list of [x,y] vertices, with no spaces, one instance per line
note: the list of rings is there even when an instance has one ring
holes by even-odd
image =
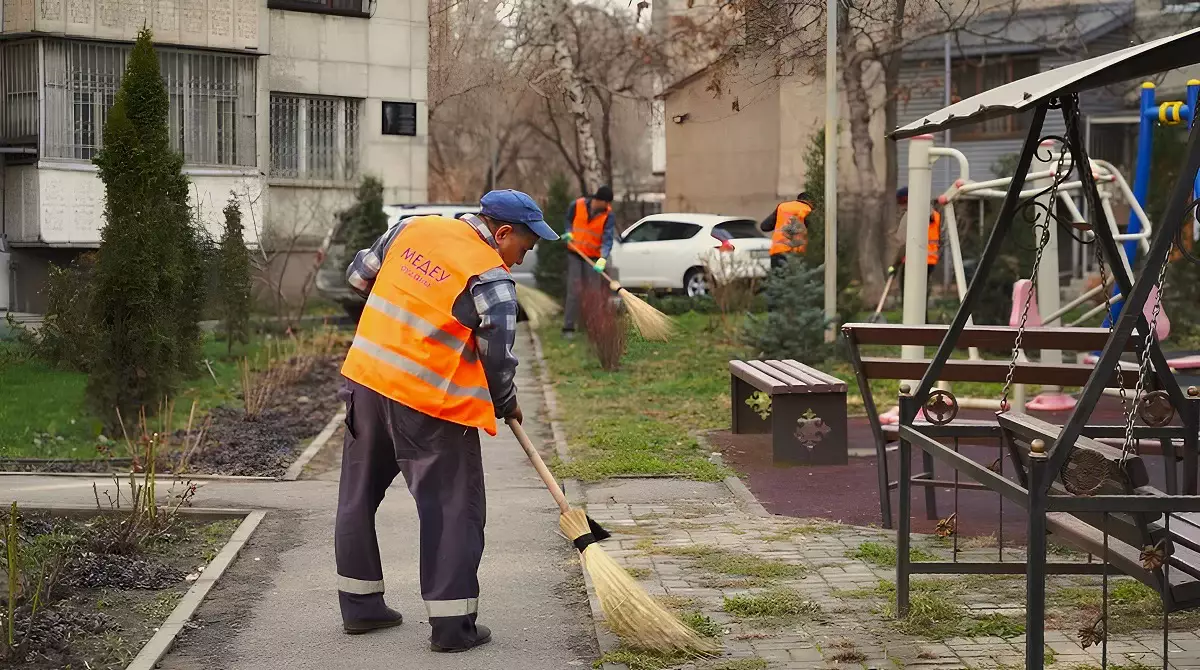
[[[642,491],[653,489],[647,485]],[[708,492],[716,491],[709,489]],[[646,496],[590,491],[588,499],[592,516],[614,532],[610,552],[631,569],[649,592],[680,611],[702,612],[720,627],[727,658],[679,668],[1025,666],[1025,639],[1019,634],[1024,630],[1025,616],[1024,575],[916,578],[920,586],[913,596],[914,610],[950,606],[954,611],[949,618],[954,622],[950,626],[956,627],[953,636],[934,640],[908,634],[919,630],[905,630],[895,622],[889,611],[894,568],[866,560],[878,555],[887,558],[888,549],[894,560],[890,531],[760,516],[732,496],[642,502]],[[967,542],[964,545],[967,548],[960,548],[960,561],[996,557],[995,549],[972,548]],[[938,538],[917,538],[914,546],[934,556],[950,557],[948,543]],[[754,558],[761,561],[748,563]],[[1006,550],[1006,560],[1021,558],[1020,551]],[[1086,560],[1066,554],[1057,560],[1067,558]],[[791,575],[791,572],[799,574]],[[754,574],[784,576],[756,578]],[[1074,597],[1091,593],[1098,603],[1100,578],[1052,578],[1051,587],[1057,590],[1055,593]],[[1128,578],[1112,578],[1109,587],[1124,592],[1142,588]],[[803,605],[793,608],[796,614],[770,620],[726,611],[739,612],[739,600],[744,604],[746,598],[762,600],[763,596],[781,592],[800,599]],[[937,598],[923,597],[923,593],[934,593]],[[1145,597],[1147,593],[1139,594]],[[728,605],[731,602],[733,606]],[[1118,612],[1122,605],[1110,606]],[[1063,616],[1069,618],[1070,612]],[[1172,630],[1170,668],[1200,668],[1196,621],[1182,620],[1180,623],[1190,629]],[[1157,622],[1160,615],[1145,620],[1147,624]],[[1055,629],[1051,626],[1046,646],[1050,651],[1048,664],[1054,662],[1049,664],[1051,668],[1100,668],[1100,647],[1082,648],[1075,628]],[[1163,668],[1162,648],[1163,636],[1158,629],[1114,633],[1108,646],[1109,668]],[[721,665],[755,658],[766,665],[749,660],[740,665]]]

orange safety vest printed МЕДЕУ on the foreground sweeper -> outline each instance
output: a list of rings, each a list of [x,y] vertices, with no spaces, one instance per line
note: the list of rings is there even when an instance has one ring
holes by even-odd
[[[451,312],[467,282],[508,268],[466,221],[412,220],[379,268],[342,375],[431,417],[496,435],[475,335]]]

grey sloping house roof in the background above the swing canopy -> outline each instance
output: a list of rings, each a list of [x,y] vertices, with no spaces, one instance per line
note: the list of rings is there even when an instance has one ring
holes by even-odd
[[[1134,19],[1129,1],[1061,5],[1043,10],[991,12],[950,32],[955,56],[1080,50]],[[905,60],[941,59],[946,37],[932,35],[904,50]]]

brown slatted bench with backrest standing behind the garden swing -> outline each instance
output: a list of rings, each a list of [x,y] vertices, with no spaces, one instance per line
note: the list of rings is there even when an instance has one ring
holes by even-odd
[[[854,366],[854,376],[859,391],[863,395],[863,407],[870,423],[871,435],[875,439],[876,467],[878,468],[880,489],[880,514],[883,527],[892,528],[892,498],[890,491],[899,487],[899,480],[892,480],[888,472],[888,453],[894,448],[888,447],[889,442],[896,439],[896,429],[884,426],[880,421],[880,413],[875,405],[875,399],[870,391],[871,379],[919,379],[929,367],[929,360],[905,360],[900,358],[881,358],[860,355],[859,348],[863,346],[924,346],[936,347],[949,330],[947,325],[902,325],[902,324],[870,324],[847,323],[842,325],[842,336],[848,346],[851,363]],[[990,351],[1010,351],[1016,337],[1016,329],[1004,325],[970,325],[959,335],[955,348],[966,351],[972,347]],[[1060,351],[1098,351],[1104,348],[1109,337],[1105,328],[1026,328],[1022,335],[1022,348],[1032,349],[1060,349]],[[1129,351],[1134,351],[1135,337],[1129,340]],[[1007,360],[948,360],[938,381],[942,382],[994,382],[1003,383],[1008,373]],[[1075,363],[1032,363],[1021,361],[1016,364],[1013,372],[1014,383],[1024,384],[1050,384],[1081,387],[1087,383],[1093,366]],[[1133,388],[1138,381],[1136,370],[1122,370],[1120,379],[1116,371],[1109,379],[1111,385],[1123,382],[1126,388]],[[916,389],[912,389],[916,391]],[[918,419],[913,423],[925,435],[935,437],[943,443],[952,443],[956,439],[971,439],[972,444],[992,444],[1000,447],[1000,426],[995,420],[972,420],[955,418],[949,425],[936,426]],[[1124,426],[1091,426],[1091,430],[1102,432],[1093,437],[1123,437]],[[1138,431],[1141,432],[1140,430]],[[1182,438],[1182,432],[1177,436]],[[1164,453],[1171,449],[1170,441],[1163,444]],[[1165,459],[1168,465],[1169,480],[1174,480],[1175,459]],[[934,473],[934,457],[922,451],[922,472],[914,473],[911,483],[925,489],[925,513],[930,520],[938,519],[936,487],[959,489],[985,489],[977,483],[958,483],[953,480],[937,479]],[[1193,468],[1194,469],[1194,468]]]

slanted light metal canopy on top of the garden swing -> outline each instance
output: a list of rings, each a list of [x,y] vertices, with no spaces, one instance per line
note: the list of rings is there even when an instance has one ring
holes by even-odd
[[[1039,72],[984,91],[892,132],[906,139],[1034,109],[1052,97],[1120,84],[1200,62],[1200,28]]]

